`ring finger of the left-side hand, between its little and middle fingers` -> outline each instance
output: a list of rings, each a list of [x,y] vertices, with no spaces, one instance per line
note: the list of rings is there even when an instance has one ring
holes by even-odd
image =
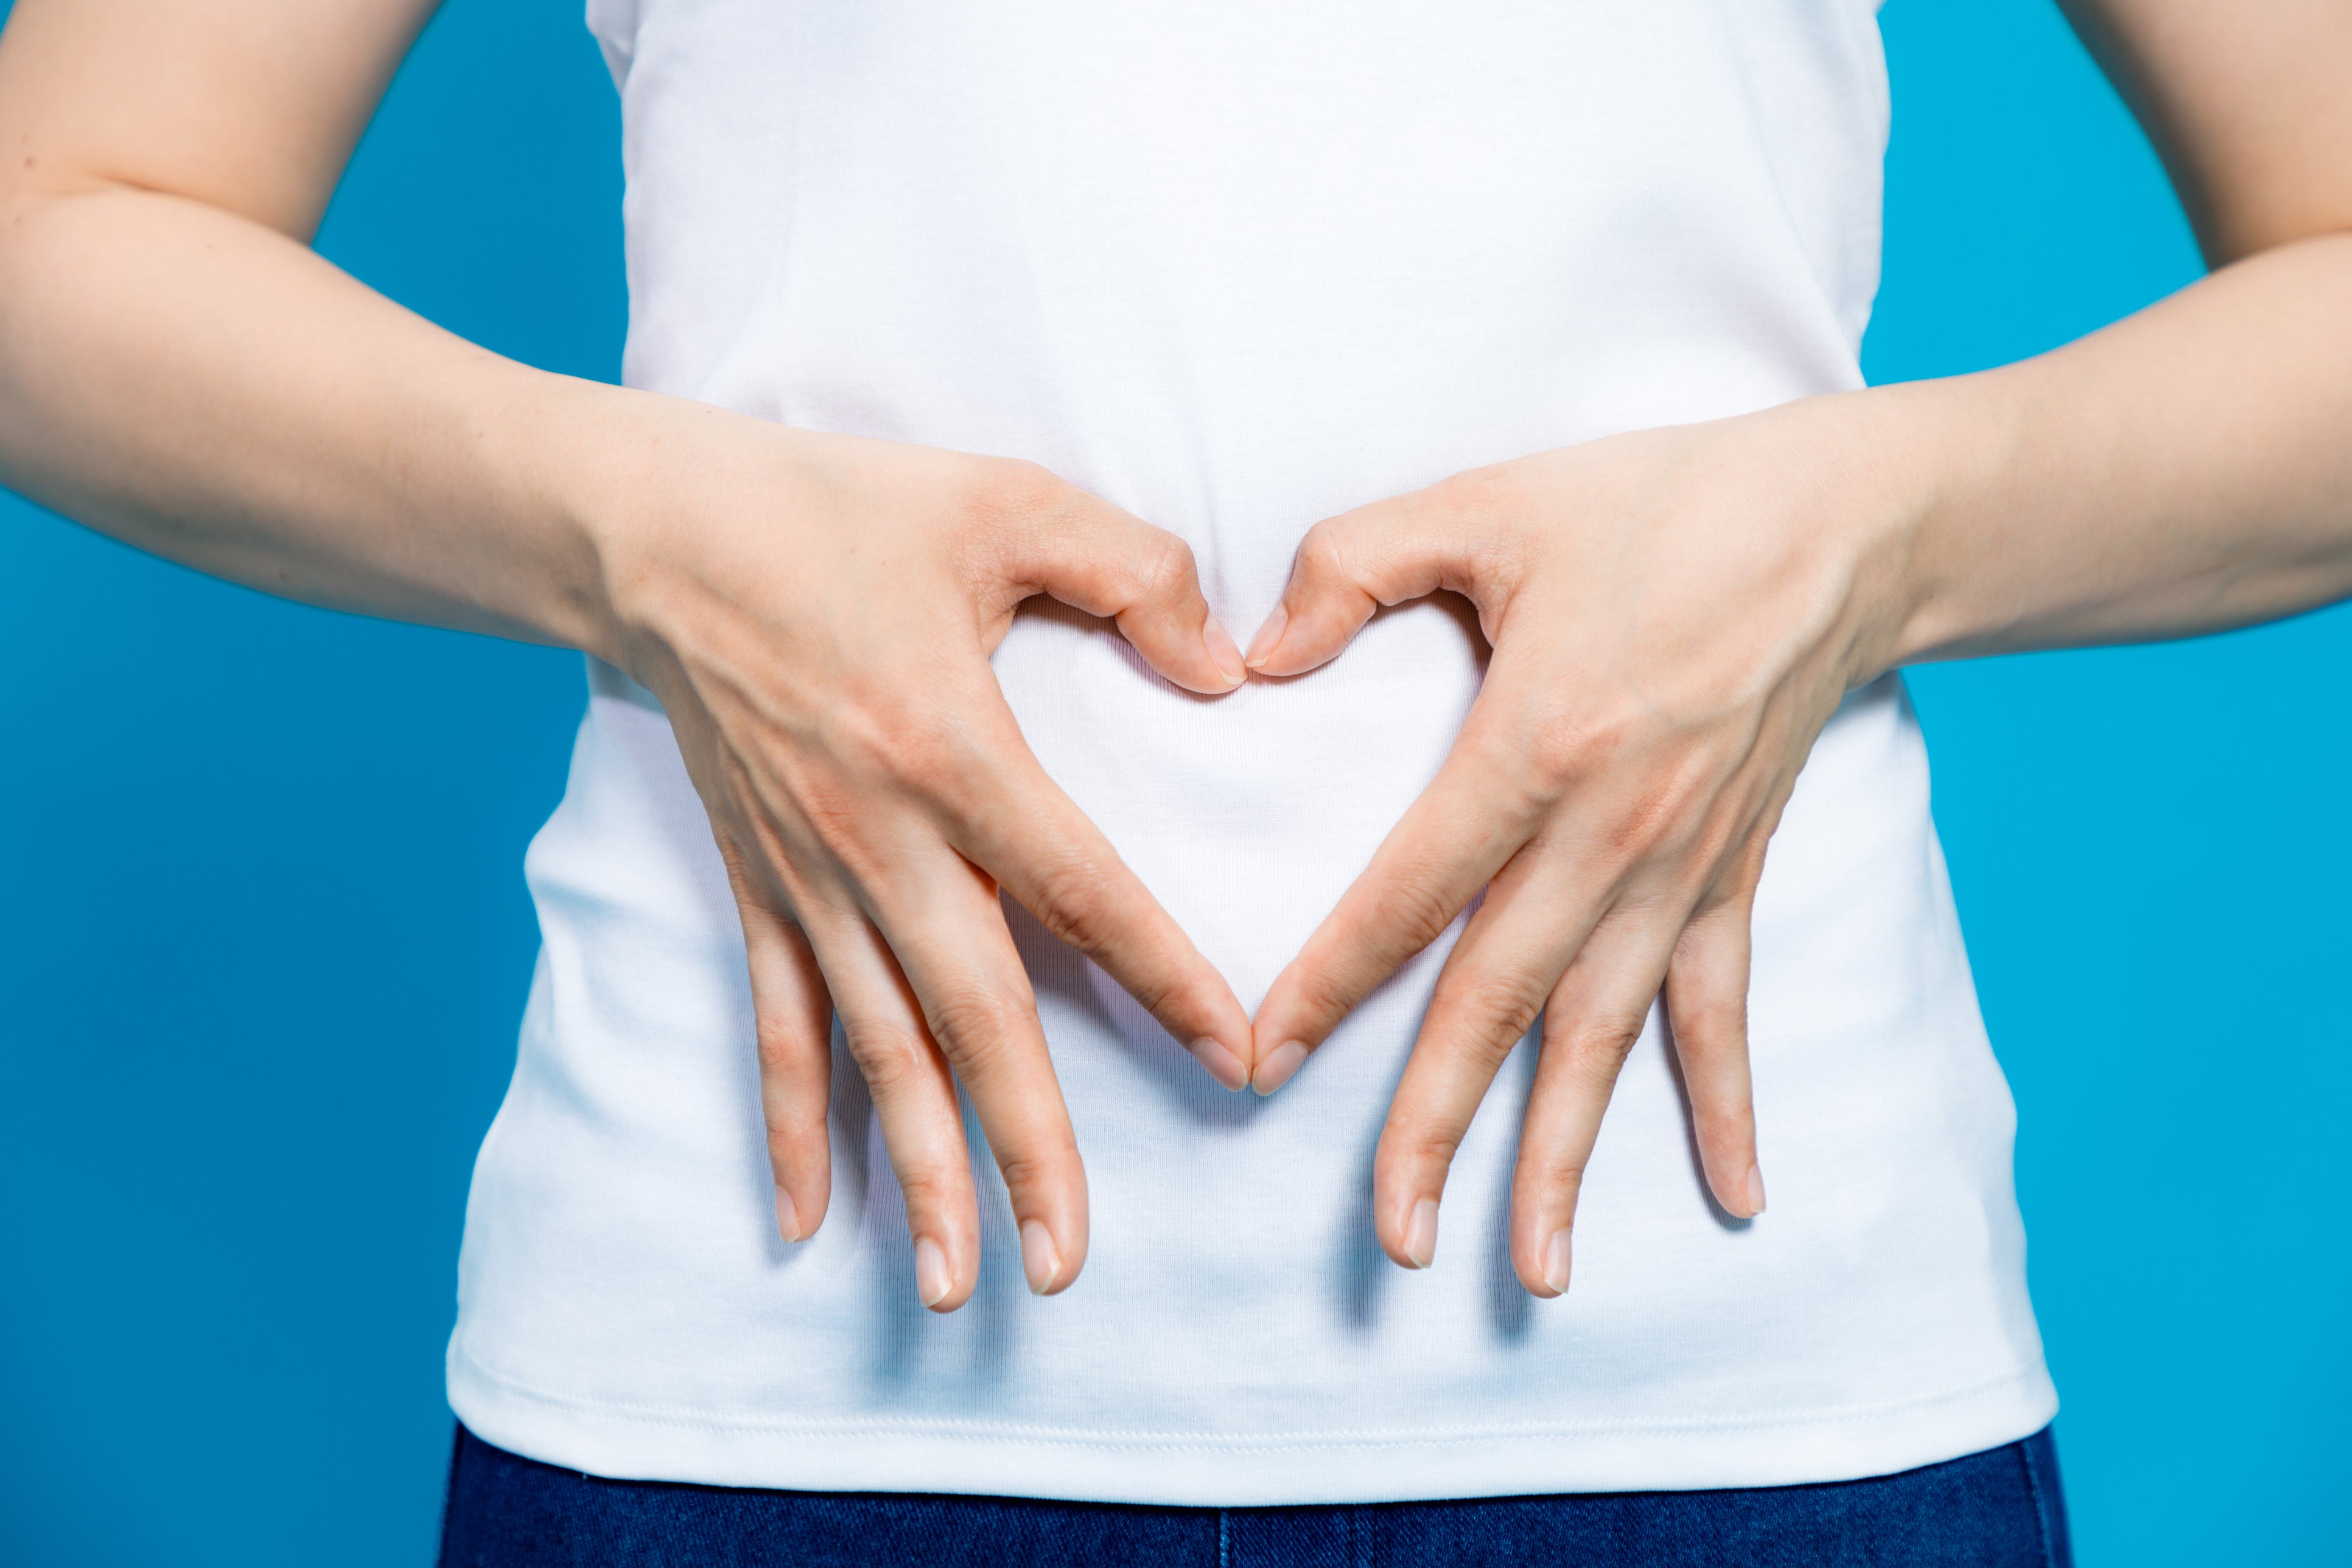
[[[797,900],[809,947],[866,1077],[915,1244],[915,1295],[955,1312],[981,1276],[981,1211],[955,1077],[882,933],[854,907]]]

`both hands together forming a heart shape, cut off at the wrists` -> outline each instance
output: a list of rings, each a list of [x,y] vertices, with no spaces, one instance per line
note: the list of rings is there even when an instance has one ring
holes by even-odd
[[[649,463],[612,597],[743,917],[783,1237],[826,1213],[840,1011],[924,1305],[953,1312],[978,1274],[957,1081],[1030,1288],[1077,1276],[1084,1171],[1000,886],[1228,1088],[1261,1093],[1484,889],[1381,1138],[1390,1258],[1428,1267],[1451,1152],[1541,1011],[1510,1251],[1529,1291],[1564,1291],[1581,1173],[1661,987],[1708,1182],[1757,1213],[1748,917],[1813,738],[1877,672],[1886,635],[1865,604],[1889,595],[1860,588],[1898,536],[1844,409],[1816,397],[1566,447],[1305,536],[1251,670],[1322,665],[1376,607],[1437,590],[1477,607],[1494,658],[1444,769],[1254,1025],[1044,776],[988,668],[1014,609],[1047,592],[1117,618],[1176,684],[1235,689],[1244,661],[1190,550],[1028,463],[682,416],[717,428],[673,442],[696,451],[691,473]]]

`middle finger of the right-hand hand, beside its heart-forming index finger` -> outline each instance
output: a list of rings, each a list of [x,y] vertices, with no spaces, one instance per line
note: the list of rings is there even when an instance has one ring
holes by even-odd
[[[1374,1154],[1374,1229],[1404,1267],[1430,1267],[1454,1152],[1592,931],[1590,882],[1557,851],[1522,853],[1446,954]]]

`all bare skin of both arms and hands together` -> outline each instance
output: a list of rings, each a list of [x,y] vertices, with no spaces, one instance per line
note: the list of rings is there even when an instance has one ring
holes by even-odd
[[[2352,592],[2352,9],[2084,5],[2220,270],[2018,367],[1590,442],[1317,524],[1254,668],[1312,668],[1376,604],[1435,590],[1470,597],[1496,654],[1444,773],[1251,1023],[1042,773],[985,663],[1047,592],[1117,618],[1169,679],[1232,689],[1242,656],[1181,541],[1021,461],[550,376],[320,261],[325,202],[428,14],[16,5],[0,480],[254,588],[576,646],[652,686],[743,914],[779,1229],[826,1213],[837,1013],[941,1312],[978,1269],[957,1079],[1030,1286],[1068,1288],[1087,1251],[1000,893],[1218,1081],[1270,1093],[1486,889],[1381,1140],[1378,1232],[1430,1262],[1451,1150],[1541,1011],[1512,1260],[1557,1295],[1661,990],[1708,1180],[1762,1208],[1748,912],[1846,691]]]

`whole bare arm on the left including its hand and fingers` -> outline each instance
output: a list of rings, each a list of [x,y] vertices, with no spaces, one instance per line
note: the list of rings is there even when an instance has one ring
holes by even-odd
[[[1087,1255],[1084,1168],[997,889],[1235,1088],[1249,1020],[1037,766],[988,651],[1051,592],[1115,616],[1169,679],[1228,691],[1240,654],[1190,552],[1028,463],[550,376],[327,266],[306,240],[428,12],[16,5],[0,480],[270,592],[630,670],[743,917],[783,1237],[830,1197],[837,1011],[924,1305],[962,1305],[978,1274],[957,1081],[1028,1281],[1061,1291]]]

